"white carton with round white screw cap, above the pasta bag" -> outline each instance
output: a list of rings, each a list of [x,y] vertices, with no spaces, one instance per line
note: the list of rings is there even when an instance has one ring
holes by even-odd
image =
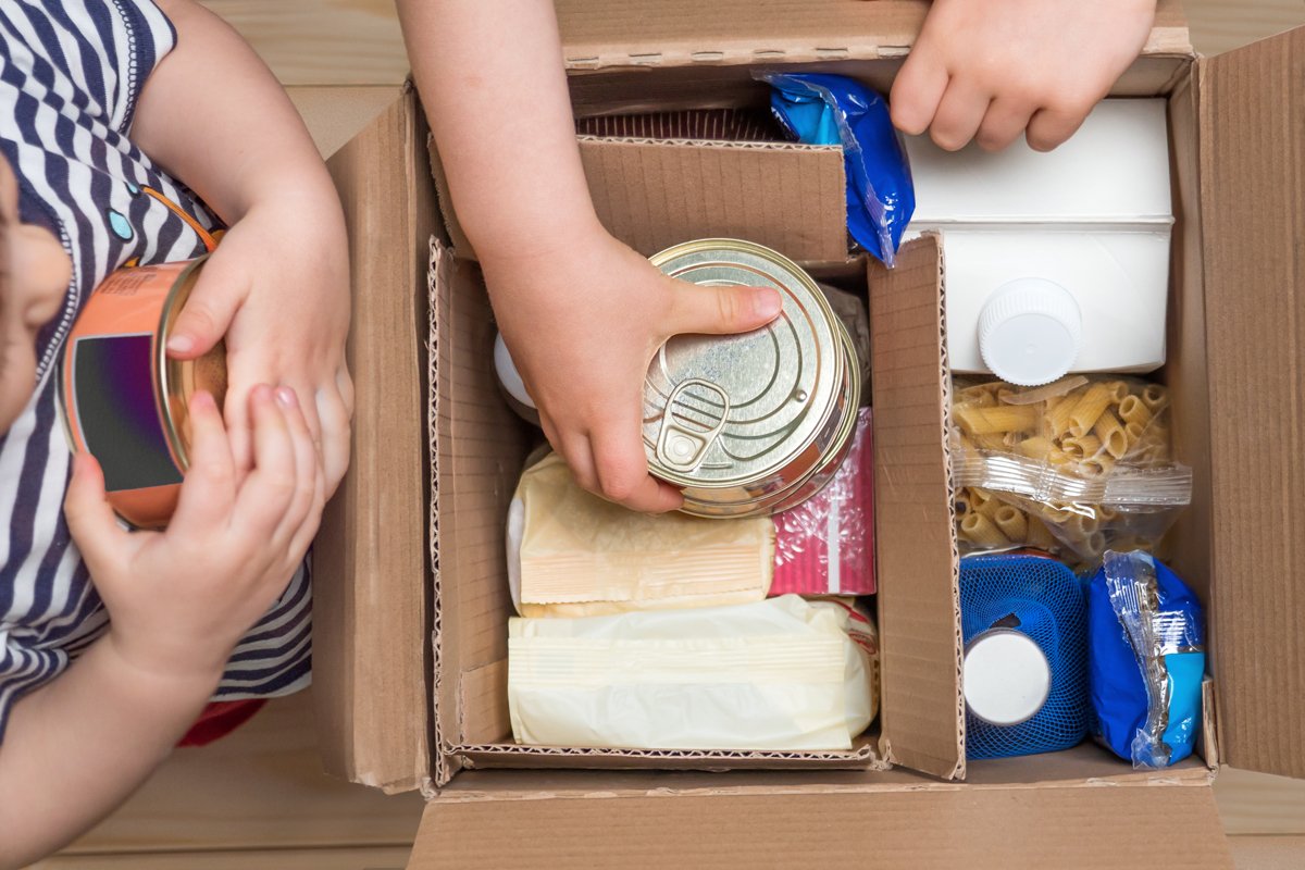
[[[951,369],[1021,385],[1164,364],[1173,205],[1159,99],[1105,100],[1048,154],[907,140],[914,233],[946,263]]]

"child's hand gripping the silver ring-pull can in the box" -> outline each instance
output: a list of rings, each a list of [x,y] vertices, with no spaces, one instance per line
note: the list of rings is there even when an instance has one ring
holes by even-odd
[[[542,256],[485,258],[482,250],[482,266],[544,434],[579,484],[634,510],[679,507],[679,490],[647,472],[649,363],[680,333],[766,325],[779,313],[779,293],[672,280],[602,230]]]

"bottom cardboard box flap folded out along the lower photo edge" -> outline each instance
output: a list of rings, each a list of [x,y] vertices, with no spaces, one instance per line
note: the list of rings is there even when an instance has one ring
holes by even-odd
[[[1205,787],[916,784],[758,794],[600,789],[595,783],[587,792],[436,797],[408,867],[1233,866],[1212,789]]]

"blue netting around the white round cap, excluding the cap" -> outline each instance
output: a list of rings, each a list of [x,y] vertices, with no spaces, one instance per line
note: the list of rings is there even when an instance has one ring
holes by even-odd
[[[966,712],[966,757],[1007,758],[1069,749],[1087,734],[1087,604],[1074,573],[1039,556],[975,556],[960,562],[960,631],[968,646],[990,629],[1028,635],[1047,656],[1051,694],[1018,725]]]

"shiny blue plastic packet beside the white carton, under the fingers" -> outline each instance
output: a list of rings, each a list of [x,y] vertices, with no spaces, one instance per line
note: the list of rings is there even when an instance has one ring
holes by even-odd
[[[847,230],[893,266],[915,214],[915,187],[887,102],[844,76],[758,73],[757,78],[773,87],[770,107],[799,142],[843,147]]]

